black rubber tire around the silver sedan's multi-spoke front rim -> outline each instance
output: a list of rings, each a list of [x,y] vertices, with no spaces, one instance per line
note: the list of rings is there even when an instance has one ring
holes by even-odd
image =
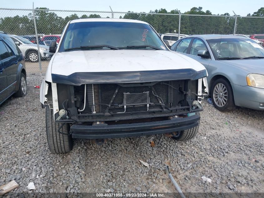
[[[222,104],[217,104],[217,102],[219,102],[219,98],[218,96],[214,95],[214,89],[216,88],[217,85],[223,85],[226,89],[226,93],[227,96],[224,95],[222,99],[222,101],[225,101],[225,104],[222,106]],[[217,89],[217,88],[216,88]],[[221,92],[222,94],[222,92]],[[221,97],[221,96],[220,96]],[[232,111],[235,109],[235,102],[234,102],[234,96],[233,96],[233,89],[231,87],[231,84],[228,82],[227,79],[221,78],[221,79],[217,79],[212,83],[212,88],[211,88],[211,98],[212,98],[212,102],[215,106],[216,109],[218,109],[219,111]]]

